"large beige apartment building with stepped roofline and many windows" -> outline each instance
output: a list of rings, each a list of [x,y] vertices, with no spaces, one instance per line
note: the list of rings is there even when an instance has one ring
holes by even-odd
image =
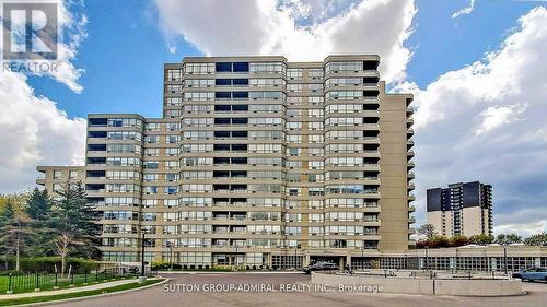
[[[322,62],[189,57],[164,67],[163,117],[90,114],[85,184],[105,260],[371,267],[414,219],[410,94],[386,94],[374,55]],[[146,233],[142,241],[141,232]]]

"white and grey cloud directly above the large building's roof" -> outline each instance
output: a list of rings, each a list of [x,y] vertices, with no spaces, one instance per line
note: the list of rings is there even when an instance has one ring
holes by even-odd
[[[412,0],[368,0],[346,10],[314,1],[277,5],[274,0],[158,0],[156,7],[167,40],[182,36],[208,56],[282,55],[317,61],[330,54],[379,54],[387,81],[404,79],[411,56],[403,44],[416,14]],[[299,19],[314,12],[325,17],[299,25]]]

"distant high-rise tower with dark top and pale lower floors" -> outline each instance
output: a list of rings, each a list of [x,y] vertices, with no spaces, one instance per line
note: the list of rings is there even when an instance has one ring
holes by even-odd
[[[428,223],[443,236],[492,234],[492,186],[458,182],[428,190]]]

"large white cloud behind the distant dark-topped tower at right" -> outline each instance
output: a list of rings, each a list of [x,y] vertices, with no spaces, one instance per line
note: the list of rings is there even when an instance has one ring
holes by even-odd
[[[545,224],[546,49],[547,9],[539,7],[484,60],[446,72],[424,90],[397,87],[414,92],[418,106],[417,212],[424,211],[427,188],[481,180],[493,185],[497,229],[534,232]],[[523,211],[531,214],[517,215]]]

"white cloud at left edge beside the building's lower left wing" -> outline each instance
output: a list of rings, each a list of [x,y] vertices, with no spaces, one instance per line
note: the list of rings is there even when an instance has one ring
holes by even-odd
[[[0,192],[34,186],[36,165],[83,164],[85,120],[71,119],[26,76],[0,72]]]

